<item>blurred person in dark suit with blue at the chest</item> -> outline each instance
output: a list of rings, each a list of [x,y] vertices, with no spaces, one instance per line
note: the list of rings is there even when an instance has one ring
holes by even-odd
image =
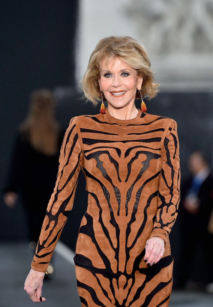
[[[179,205],[182,239],[181,272],[178,282],[179,288],[210,290],[213,282],[213,264],[211,246],[213,230],[211,215],[213,211],[213,174],[209,166],[208,157],[202,151],[194,151],[188,158],[189,177],[183,181],[182,197]],[[191,260],[201,244],[207,272],[198,276],[197,281],[191,278]]]

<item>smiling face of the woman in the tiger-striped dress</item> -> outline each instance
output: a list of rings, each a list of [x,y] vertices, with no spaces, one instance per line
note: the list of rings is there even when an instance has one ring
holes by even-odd
[[[113,107],[124,107],[135,102],[137,89],[141,89],[143,78],[137,76],[136,69],[128,66],[119,58],[110,61],[108,65],[103,59],[98,79],[100,90],[108,103]],[[113,95],[112,93],[115,93]]]

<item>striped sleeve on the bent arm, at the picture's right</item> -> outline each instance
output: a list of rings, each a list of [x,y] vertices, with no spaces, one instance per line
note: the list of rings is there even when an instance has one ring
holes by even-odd
[[[168,127],[168,129],[167,129]],[[176,221],[180,201],[180,162],[177,123],[168,122],[161,146],[162,166],[158,188],[158,210],[149,237],[162,237],[165,241]]]

